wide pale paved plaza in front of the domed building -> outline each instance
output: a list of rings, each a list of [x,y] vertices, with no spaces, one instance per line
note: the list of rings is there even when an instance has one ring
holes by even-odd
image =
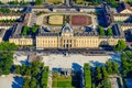
[[[85,63],[90,63],[91,66],[100,66],[105,65],[105,63],[110,59],[119,59],[118,56],[85,56],[85,55],[48,55],[43,56],[43,62],[46,66],[50,66],[51,69],[53,68],[73,68],[74,64],[82,67]]]

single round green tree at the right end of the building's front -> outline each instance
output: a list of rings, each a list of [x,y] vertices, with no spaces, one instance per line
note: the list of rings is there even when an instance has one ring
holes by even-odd
[[[119,40],[118,44],[114,46],[114,51],[123,51],[127,48],[125,41]]]

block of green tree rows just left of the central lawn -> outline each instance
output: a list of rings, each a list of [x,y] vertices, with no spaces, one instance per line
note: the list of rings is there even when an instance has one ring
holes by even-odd
[[[25,77],[22,88],[47,88],[48,72],[48,67],[38,61],[32,62],[29,66],[14,66],[14,73]]]

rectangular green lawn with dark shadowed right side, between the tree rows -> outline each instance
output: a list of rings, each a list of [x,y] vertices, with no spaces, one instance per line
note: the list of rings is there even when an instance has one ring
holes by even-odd
[[[79,88],[80,74],[79,72],[72,72],[70,75],[63,75],[59,72],[53,73],[53,88]]]

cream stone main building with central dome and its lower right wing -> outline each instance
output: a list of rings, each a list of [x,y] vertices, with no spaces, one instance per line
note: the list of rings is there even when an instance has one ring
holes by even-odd
[[[66,24],[58,33],[40,32],[36,36],[37,48],[98,48],[99,45],[116,45],[119,36],[99,36],[97,31],[76,32],[69,24]]]

